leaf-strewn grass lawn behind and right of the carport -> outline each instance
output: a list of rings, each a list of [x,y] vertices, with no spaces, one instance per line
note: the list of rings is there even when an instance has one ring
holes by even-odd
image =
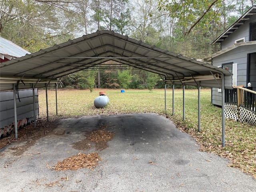
[[[94,99],[105,91],[110,102],[96,109]],[[230,166],[256,178],[256,127],[250,124],[225,121],[226,144],[222,148],[221,108],[211,104],[211,90],[201,90],[201,132],[198,132],[198,92],[185,90],[185,121],[182,114],[182,90],[174,90],[174,116],[172,116],[172,89],[168,89],[167,110],[164,111],[164,89],[90,90],[58,89],[58,115],[56,116],[55,90],[48,90],[49,118],[68,118],[84,115],[110,115],[128,113],[157,113],[165,115],[177,128],[189,133],[200,144],[201,150],[230,159]],[[40,118],[46,118],[45,90],[38,90]]]

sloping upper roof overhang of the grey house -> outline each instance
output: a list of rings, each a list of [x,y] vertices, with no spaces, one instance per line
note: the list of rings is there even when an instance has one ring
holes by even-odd
[[[218,36],[210,44],[220,44],[224,39],[226,39],[230,34],[237,30],[244,22],[250,19],[252,15],[256,14],[256,5],[251,6],[248,11],[246,11],[238,20],[236,20],[229,28],[227,28],[220,36]]]

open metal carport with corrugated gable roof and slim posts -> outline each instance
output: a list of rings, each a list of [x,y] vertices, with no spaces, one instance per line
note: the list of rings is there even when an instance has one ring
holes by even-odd
[[[138,68],[159,74],[165,84],[173,85],[173,95],[174,85],[182,85],[183,120],[185,119],[185,85],[197,86],[198,131],[200,131],[200,87],[221,88],[222,106],[225,106],[224,90],[232,89],[232,74],[227,70],[186,58],[181,54],[162,50],[156,46],[150,46],[113,31],[102,30],[1,63],[0,90],[14,91],[14,113],[16,113],[16,89],[34,89],[47,86],[57,88],[56,85],[63,76],[80,70],[104,68],[106,67],[104,63],[108,61],[121,64],[124,68]],[[174,115],[174,96],[172,113]],[[224,114],[224,107],[222,107],[222,146],[225,145]],[[17,138],[16,114],[14,117],[15,136]]]

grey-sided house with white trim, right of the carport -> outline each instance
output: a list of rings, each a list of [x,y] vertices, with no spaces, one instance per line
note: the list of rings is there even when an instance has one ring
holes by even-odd
[[[256,5],[211,44],[220,44],[221,48],[208,60],[233,74],[232,86],[247,87],[250,83],[256,91]],[[212,104],[221,106],[221,100],[221,89],[212,88]]]

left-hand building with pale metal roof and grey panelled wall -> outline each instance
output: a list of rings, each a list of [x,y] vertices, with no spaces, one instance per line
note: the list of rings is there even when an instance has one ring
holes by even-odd
[[[17,46],[13,42],[0,37],[0,64],[11,59],[16,59],[30,52]],[[0,86],[4,86],[1,80],[7,77],[0,76]],[[18,86],[16,86],[18,89]],[[38,90],[34,89],[35,105],[33,102],[33,89],[16,91],[17,126],[22,127],[34,121],[34,106],[36,118],[39,115]],[[10,133],[14,127],[14,91],[0,91],[0,138]]]

